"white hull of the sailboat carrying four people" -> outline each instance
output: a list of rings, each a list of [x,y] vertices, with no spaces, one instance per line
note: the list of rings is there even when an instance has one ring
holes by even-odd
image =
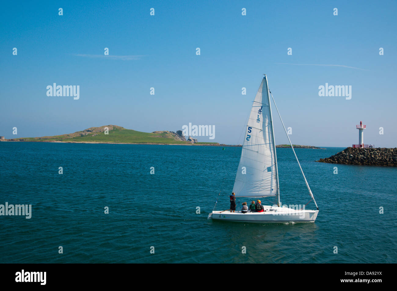
[[[295,210],[286,207],[263,206],[264,212],[212,211],[208,219],[251,223],[314,222],[318,210]]]

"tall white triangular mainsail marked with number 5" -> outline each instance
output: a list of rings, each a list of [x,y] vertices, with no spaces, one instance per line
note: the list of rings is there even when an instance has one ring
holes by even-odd
[[[276,146],[266,75],[252,104],[233,192],[238,197],[269,197],[279,193]]]

